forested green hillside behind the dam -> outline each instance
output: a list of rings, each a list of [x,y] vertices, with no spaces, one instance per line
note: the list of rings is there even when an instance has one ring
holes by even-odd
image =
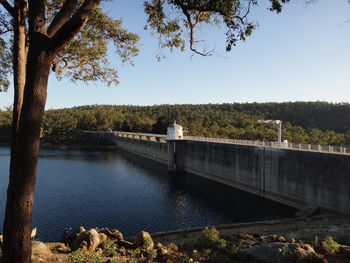
[[[350,145],[350,105],[326,102],[82,106],[46,111],[42,135],[47,142],[73,143],[81,130],[164,134],[174,119],[186,135],[267,141],[276,140],[276,129],[257,121],[279,119],[288,141]],[[8,138],[10,120],[10,110],[0,111],[0,137]]]

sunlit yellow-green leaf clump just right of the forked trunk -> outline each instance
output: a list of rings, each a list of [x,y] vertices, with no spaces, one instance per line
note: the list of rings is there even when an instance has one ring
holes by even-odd
[[[60,52],[52,70],[57,77],[75,81],[102,81],[118,84],[117,70],[110,66],[109,44],[123,63],[132,64],[139,52],[139,37],[122,27],[122,20],[114,20],[98,8],[84,29]]]

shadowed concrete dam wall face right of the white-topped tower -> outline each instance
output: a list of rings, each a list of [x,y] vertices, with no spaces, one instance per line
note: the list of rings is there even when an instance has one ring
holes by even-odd
[[[350,213],[350,155],[171,141],[183,170],[293,207]]]

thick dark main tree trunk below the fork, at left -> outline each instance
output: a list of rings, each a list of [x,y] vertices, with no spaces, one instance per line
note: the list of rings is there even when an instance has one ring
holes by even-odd
[[[30,263],[31,222],[40,128],[44,115],[47,81],[52,56],[43,47],[45,39],[31,40],[26,70],[23,106],[14,149],[4,222],[2,263]]]

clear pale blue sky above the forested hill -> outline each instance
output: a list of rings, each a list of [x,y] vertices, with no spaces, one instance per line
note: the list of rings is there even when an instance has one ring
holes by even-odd
[[[183,104],[265,101],[350,102],[350,4],[347,0],[292,0],[279,15],[259,1],[251,18],[259,27],[246,42],[225,52],[224,28],[203,32],[218,55],[167,52],[157,62],[157,39],[143,30],[141,0],[115,0],[111,16],[141,37],[135,66],[119,69],[120,84],[73,84],[51,75],[46,108],[87,104]],[[204,34],[205,33],[205,34]],[[0,107],[12,103],[0,93]]]

